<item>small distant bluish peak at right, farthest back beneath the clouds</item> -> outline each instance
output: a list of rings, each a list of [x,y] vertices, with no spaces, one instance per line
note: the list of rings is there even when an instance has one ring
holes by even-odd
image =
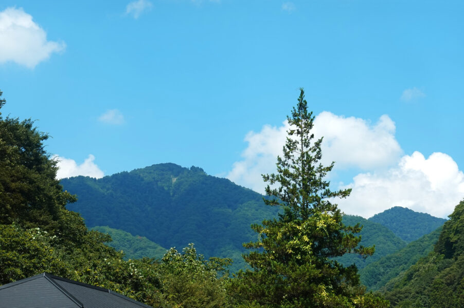
[[[442,226],[446,219],[395,206],[369,218],[393,231],[405,242],[412,242]]]

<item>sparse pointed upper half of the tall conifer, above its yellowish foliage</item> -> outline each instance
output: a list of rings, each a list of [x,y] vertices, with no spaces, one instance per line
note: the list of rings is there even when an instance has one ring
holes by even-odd
[[[323,138],[313,141],[311,130],[314,116],[312,111],[308,112],[303,89],[300,89],[298,104],[293,107],[292,116],[288,116],[287,120],[291,128],[283,147],[283,158],[277,157],[277,174],[263,175],[263,180],[269,182],[266,195],[276,199],[264,202],[289,207],[295,217],[303,220],[315,211],[336,211],[336,205],[331,204],[329,199],[346,198],[351,189],[331,191],[330,182],[324,180],[334,162],[328,166],[319,162],[322,159]],[[271,188],[276,183],[280,187]]]

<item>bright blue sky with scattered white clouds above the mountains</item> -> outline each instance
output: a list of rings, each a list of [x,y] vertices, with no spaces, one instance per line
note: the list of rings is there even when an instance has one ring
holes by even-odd
[[[445,217],[464,197],[463,9],[4,0],[2,112],[37,120],[63,175],[173,162],[260,191],[304,87],[327,157],[341,162],[332,185],[353,188],[346,213]]]

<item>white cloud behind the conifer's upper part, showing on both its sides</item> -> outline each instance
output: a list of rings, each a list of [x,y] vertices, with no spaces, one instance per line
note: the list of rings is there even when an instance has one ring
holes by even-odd
[[[264,125],[260,132],[248,132],[243,160],[234,163],[227,178],[263,192],[261,174],[275,172],[276,158],[282,153],[289,128],[284,121],[279,127]],[[387,115],[372,125],[360,118],[345,118],[324,111],[315,118],[313,132],[316,138],[324,136],[322,163],[335,161],[336,168],[386,167],[401,155],[395,139],[395,123]]]

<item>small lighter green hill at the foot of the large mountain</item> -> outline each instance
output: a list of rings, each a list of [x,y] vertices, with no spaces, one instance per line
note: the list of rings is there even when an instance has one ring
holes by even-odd
[[[161,259],[167,252],[166,248],[159,246],[146,237],[133,236],[123,230],[113,229],[109,226],[95,226],[92,230],[111,236],[112,241],[107,244],[117,251],[122,251],[124,259],[141,259],[144,257]]]

